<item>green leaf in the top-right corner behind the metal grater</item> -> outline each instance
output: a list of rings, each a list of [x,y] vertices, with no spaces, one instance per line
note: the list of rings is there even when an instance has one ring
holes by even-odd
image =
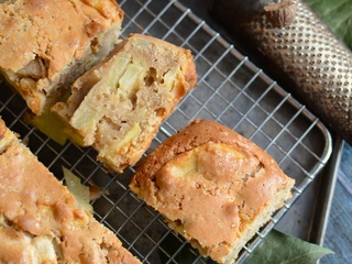
[[[352,0],[307,0],[307,3],[352,50]]]

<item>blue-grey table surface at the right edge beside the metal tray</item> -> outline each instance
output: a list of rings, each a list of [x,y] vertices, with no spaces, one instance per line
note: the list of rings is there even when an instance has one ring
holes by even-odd
[[[352,263],[352,146],[344,142],[320,264]]]

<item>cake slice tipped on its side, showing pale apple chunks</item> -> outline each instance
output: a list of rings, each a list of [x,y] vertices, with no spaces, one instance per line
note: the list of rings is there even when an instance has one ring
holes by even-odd
[[[76,143],[94,146],[116,172],[133,166],[162,122],[196,86],[193,55],[160,38],[131,34],[79,77],[52,110]]]

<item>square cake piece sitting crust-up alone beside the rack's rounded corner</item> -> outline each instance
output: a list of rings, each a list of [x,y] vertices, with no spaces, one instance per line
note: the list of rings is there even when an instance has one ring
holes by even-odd
[[[142,161],[130,187],[202,255],[233,263],[294,183],[253,142],[195,120]]]

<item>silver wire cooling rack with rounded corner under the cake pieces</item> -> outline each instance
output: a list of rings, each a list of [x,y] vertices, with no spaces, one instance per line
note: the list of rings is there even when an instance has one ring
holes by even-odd
[[[127,0],[122,37],[130,33],[157,36],[189,48],[196,61],[198,88],[193,90],[162,125],[150,152],[195,118],[217,120],[268,152],[296,179],[293,199],[242,250],[239,263],[253,252],[286,210],[327,163],[331,139],[322,123],[285,92],[250,59],[177,1]],[[69,168],[85,184],[100,188],[92,201],[96,218],[144,263],[212,263],[201,257],[164,223],[163,217],[130,190],[133,168],[108,173],[96,162],[92,148],[64,146],[23,122],[23,100],[0,80],[0,116],[21,134],[32,152],[59,179]]]

